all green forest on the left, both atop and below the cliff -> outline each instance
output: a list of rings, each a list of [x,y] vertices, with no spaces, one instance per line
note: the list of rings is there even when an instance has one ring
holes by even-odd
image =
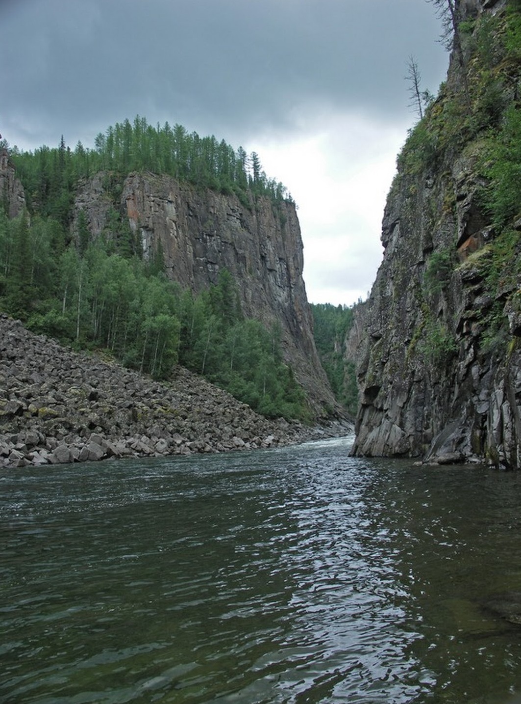
[[[7,146],[5,143],[2,146]],[[183,127],[153,128],[143,118],[109,127],[96,149],[62,139],[54,149],[13,149],[27,210],[8,218],[0,201],[0,309],[29,329],[77,349],[101,351],[167,379],[175,364],[205,376],[267,417],[309,419],[301,386],[281,355],[281,331],[244,317],[226,270],[197,296],[165,276],[162,253],[144,261],[117,210],[93,241],[84,213],[72,232],[80,179],[105,171],[108,187],[130,170],[166,172],[195,187],[235,193],[250,208],[259,196],[289,199],[258,156]],[[115,194],[117,196],[117,194]]]

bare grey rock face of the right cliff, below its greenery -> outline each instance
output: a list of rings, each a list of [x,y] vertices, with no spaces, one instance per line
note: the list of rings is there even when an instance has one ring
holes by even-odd
[[[478,197],[483,148],[468,142],[394,180],[359,313],[356,455],[521,465],[520,282],[504,276],[493,293],[487,280],[496,234]]]

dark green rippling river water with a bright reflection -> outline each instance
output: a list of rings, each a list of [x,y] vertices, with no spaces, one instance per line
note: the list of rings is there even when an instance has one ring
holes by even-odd
[[[499,704],[521,473],[351,439],[0,475],[0,701]]]

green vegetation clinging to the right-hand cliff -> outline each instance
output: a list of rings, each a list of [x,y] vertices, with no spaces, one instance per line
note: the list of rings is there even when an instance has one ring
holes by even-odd
[[[423,187],[433,166],[449,171],[465,149],[464,162],[473,163],[476,181],[487,184],[481,202],[493,228],[487,245],[459,268],[479,271],[493,301],[487,302],[475,327],[482,330],[481,351],[504,351],[508,340],[504,306],[521,275],[516,222],[521,218],[521,0],[508,0],[505,11],[465,20],[458,25],[458,34],[463,61],[453,65],[449,82],[411,130],[398,159],[397,183],[412,176],[409,188],[414,192]],[[436,251],[427,261],[423,279],[427,313],[408,350],[410,356],[416,348],[436,368],[454,356],[456,343],[450,325],[432,316],[430,311],[439,306],[429,298],[439,295],[453,267],[449,251]]]

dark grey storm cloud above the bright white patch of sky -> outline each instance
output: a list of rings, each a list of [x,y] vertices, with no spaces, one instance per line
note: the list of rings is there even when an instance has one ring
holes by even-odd
[[[0,26],[0,132],[27,146],[136,114],[234,146],[315,108],[403,120],[407,57],[433,91],[446,63],[424,0],[4,0]]]

